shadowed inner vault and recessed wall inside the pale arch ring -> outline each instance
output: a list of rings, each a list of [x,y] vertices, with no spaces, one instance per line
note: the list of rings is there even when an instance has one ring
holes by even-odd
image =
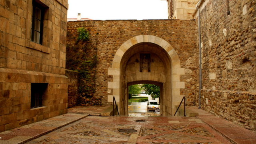
[[[155,84],[161,87],[160,113],[171,104],[171,60],[160,46],[143,42],[129,48],[120,64],[121,113],[128,115],[128,86],[131,84]],[[162,100],[168,101],[162,101]],[[168,104],[167,104],[168,103]]]

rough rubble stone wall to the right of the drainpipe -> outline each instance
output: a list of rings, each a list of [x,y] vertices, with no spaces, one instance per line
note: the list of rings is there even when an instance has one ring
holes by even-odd
[[[256,1],[200,4],[202,108],[256,130]],[[194,13],[198,18],[198,13]]]

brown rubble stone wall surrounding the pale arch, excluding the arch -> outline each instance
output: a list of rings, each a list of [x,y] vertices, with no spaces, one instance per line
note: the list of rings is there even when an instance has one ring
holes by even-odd
[[[185,82],[185,89],[180,95],[187,97],[188,105],[194,105],[198,76],[196,67],[198,62],[192,60],[198,49],[196,48],[196,24],[194,20],[94,20],[68,22],[67,44],[74,44],[77,29],[84,27],[90,34],[92,47],[97,49],[96,92],[95,97],[102,98],[102,105],[108,103],[108,95],[113,95],[108,89],[108,82],[113,76],[108,75],[108,68],[112,68],[114,54],[118,48],[130,38],[138,35],[158,36],[172,45],[177,52],[185,75],[180,76]],[[67,57],[68,59],[68,57]],[[196,61],[196,62],[194,62]],[[67,66],[68,67],[68,66]]]

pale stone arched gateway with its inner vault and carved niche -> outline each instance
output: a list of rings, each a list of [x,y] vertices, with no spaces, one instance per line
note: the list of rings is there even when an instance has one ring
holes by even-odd
[[[160,86],[160,113],[169,116],[174,113],[174,106],[182,99],[180,59],[174,48],[162,38],[140,35],[127,40],[118,48],[108,75],[113,81],[108,82],[108,102],[116,98],[121,115],[128,115],[128,86],[132,84],[156,84]]]

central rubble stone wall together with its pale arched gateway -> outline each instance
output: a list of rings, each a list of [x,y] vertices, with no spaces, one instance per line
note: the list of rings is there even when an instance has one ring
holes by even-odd
[[[160,103],[165,105],[162,111],[166,112],[166,115],[174,111],[174,105],[179,104],[182,96],[187,97],[188,105],[194,105],[198,81],[197,64],[191,59],[198,51],[194,20],[68,22],[68,43],[76,41],[74,37],[80,27],[88,30],[90,39],[95,42],[94,47],[97,48],[94,96],[102,98],[102,105],[111,104],[115,96],[124,110],[121,110],[122,114],[125,115],[126,84],[145,81],[162,84],[166,104],[164,101]],[[140,53],[152,54],[152,72],[140,72]],[[162,66],[161,62],[164,63]]]

